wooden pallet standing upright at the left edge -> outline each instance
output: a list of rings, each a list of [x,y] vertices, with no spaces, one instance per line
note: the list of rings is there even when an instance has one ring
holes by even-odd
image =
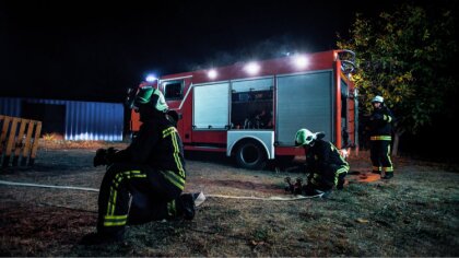
[[[42,132],[42,121],[9,117],[0,115],[0,162],[2,167],[17,166],[21,156],[21,165],[34,165],[38,150],[38,139]]]

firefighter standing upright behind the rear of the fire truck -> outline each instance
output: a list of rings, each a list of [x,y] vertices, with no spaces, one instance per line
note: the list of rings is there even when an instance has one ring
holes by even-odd
[[[381,175],[382,179],[393,177],[393,166],[390,160],[390,141],[392,140],[393,115],[384,104],[381,96],[372,99],[373,113],[369,117],[369,153],[372,160],[372,172]]]

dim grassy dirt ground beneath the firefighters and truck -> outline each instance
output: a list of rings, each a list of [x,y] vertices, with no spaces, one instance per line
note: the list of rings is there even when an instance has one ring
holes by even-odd
[[[34,167],[7,168],[0,180],[99,187],[95,149],[40,149]],[[122,148],[122,145],[119,145]],[[187,156],[186,191],[290,197],[297,166],[237,168],[222,155]],[[260,201],[209,198],[193,221],[129,226],[117,245],[86,247],[97,192],[0,185],[0,256],[459,256],[459,174],[395,159],[396,177],[369,173],[367,153],[351,157],[342,191],[328,199]]]

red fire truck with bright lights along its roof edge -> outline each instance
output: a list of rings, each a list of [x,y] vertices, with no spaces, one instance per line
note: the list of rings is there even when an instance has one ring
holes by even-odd
[[[259,169],[304,155],[294,146],[301,128],[325,132],[338,149],[357,145],[354,60],[351,50],[329,50],[168,74],[153,84],[181,116],[186,151],[226,153]],[[132,113],[132,132],[140,125]]]

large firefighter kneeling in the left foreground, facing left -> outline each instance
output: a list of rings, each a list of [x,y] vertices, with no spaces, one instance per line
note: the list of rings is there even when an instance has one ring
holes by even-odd
[[[107,165],[107,172],[98,195],[97,232],[84,236],[84,245],[121,241],[126,225],[195,216],[196,196],[181,194],[186,169],[177,113],[152,86],[131,92],[127,105],[139,113],[142,126],[127,149],[96,152],[94,166]]]

